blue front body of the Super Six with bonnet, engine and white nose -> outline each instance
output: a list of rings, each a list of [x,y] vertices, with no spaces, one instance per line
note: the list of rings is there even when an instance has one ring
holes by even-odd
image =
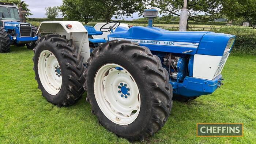
[[[208,31],[180,32],[158,27],[117,27],[109,40],[128,40],[148,47],[169,71],[175,94],[211,94],[222,84],[220,74],[236,36]]]

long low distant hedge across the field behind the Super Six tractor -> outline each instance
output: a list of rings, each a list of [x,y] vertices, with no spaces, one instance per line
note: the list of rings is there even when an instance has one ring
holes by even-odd
[[[43,22],[43,21],[64,21],[63,18],[48,19],[48,18],[28,18],[30,21]],[[121,23],[138,23],[138,24],[147,24],[147,20],[119,20]],[[91,22],[105,22],[105,20],[92,20]],[[179,24],[180,21],[160,21],[155,20],[155,24]],[[193,22],[188,21],[188,24],[199,24],[199,25],[218,25],[223,26],[227,24],[226,22]]]

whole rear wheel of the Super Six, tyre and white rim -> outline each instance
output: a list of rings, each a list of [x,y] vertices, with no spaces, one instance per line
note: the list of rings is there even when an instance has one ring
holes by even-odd
[[[83,56],[72,39],[44,35],[37,41],[34,53],[35,79],[47,101],[57,106],[76,103],[84,92],[85,79]]]

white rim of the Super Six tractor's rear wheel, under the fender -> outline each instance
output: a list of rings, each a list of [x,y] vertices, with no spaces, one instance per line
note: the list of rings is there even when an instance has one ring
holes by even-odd
[[[62,75],[60,64],[52,52],[43,50],[38,59],[38,75],[45,90],[56,95],[60,92]]]

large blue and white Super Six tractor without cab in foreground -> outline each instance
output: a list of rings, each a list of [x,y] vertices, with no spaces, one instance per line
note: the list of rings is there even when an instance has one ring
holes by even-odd
[[[36,43],[33,69],[47,101],[69,106],[86,90],[101,125],[143,141],[167,121],[173,94],[189,101],[221,87],[236,36],[119,25],[41,23],[38,33],[47,35]],[[92,37],[108,31],[108,39]]]

